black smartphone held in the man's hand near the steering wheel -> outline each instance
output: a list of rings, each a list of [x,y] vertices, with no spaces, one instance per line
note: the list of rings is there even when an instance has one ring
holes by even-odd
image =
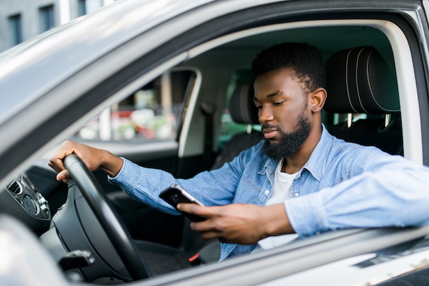
[[[186,203],[192,203],[192,204],[199,204],[200,206],[204,206],[199,200],[194,198],[190,193],[185,191],[182,187],[180,187],[178,184],[172,184],[167,189],[164,189],[160,193],[160,198],[162,200],[168,202],[171,204],[171,206],[174,206],[177,208],[177,204],[180,202],[186,202]],[[201,222],[205,220],[205,217],[199,217],[197,215],[191,215],[189,213],[183,213],[184,216],[188,217],[188,219],[191,219],[193,222]]]

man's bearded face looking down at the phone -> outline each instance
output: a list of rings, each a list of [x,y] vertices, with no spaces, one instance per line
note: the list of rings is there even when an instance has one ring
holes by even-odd
[[[308,97],[293,70],[259,75],[254,84],[254,102],[265,136],[264,151],[275,159],[295,154],[310,134]]]

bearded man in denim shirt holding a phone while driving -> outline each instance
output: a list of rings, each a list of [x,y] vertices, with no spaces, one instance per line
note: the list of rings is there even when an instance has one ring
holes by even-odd
[[[221,260],[301,237],[354,227],[429,223],[429,170],[375,147],[334,138],[321,122],[325,72],[315,47],[283,43],[252,62],[254,102],[265,141],[220,169],[188,180],[139,167],[106,150],[62,145],[49,165],[66,180],[62,158],[75,153],[89,169],[101,167],[132,198],[178,213],[158,195],[180,184],[206,206],[179,204],[206,217],[193,230],[222,243]]]

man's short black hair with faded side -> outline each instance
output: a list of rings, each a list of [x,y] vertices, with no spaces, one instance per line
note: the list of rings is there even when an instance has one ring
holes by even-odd
[[[295,77],[304,84],[305,92],[325,88],[326,71],[320,51],[308,43],[281,43],[263,49],[252,61],[255,78],[258,75],[293,69]]]

